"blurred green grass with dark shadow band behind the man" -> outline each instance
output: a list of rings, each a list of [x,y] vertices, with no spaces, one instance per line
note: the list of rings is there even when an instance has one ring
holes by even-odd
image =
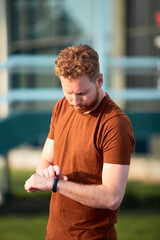
[[[11,195],[0,207],[1,240],[44,239],[50,194],[25,192],[24,182],[31,173],[10,173]],[[159,239],[160,185],[129,182],[116,229],[118,240]]]

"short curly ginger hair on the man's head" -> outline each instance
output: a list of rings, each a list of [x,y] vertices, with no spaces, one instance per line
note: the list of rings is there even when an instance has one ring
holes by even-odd
[[[99,74],[98,53],[83,44],[63,49],[55,60],[55,74],[70,81],[86,75],[90,81],[95,81]]]

